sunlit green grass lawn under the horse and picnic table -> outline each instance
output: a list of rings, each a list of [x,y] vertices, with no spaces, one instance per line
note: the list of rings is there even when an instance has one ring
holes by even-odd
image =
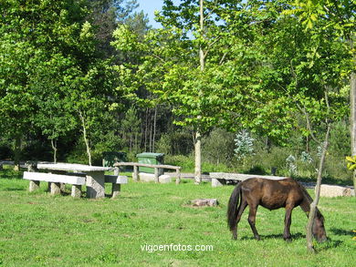
[[[0,170],[0,265],[355,266],[356,198],[320,199],[330,241],[317,244],[318,253],[310,254],[307,217],[300,208],[293,211],[292,242],[283,241],[284,211],[262,207],[257,212],[262,240],[253,239],[245,211],[238,240],[232,241],[225,220],[232,186],[129,180],[116,200],[53,197],[46,183],[37,192],[27,187],[21,174]],[[220,205],[189,205],[198,198],[217,198]],[[150,252],[159,245],[167,245],[162,247],[166,251]],[[195,245],[213,251],[203,246],[205,251],[188,251]]]

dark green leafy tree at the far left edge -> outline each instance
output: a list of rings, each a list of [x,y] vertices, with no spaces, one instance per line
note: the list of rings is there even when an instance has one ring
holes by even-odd
[[[1,124],[16,139],[16,166],[23,133],[32,128],[37,113],[35,81],[52,59],[72,47],[72,34],[85,11],[82,7],[70,0],[2,1],[0,5]]]

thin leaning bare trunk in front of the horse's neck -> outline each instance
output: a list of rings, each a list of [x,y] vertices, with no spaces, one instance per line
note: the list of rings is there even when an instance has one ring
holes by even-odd
[[[324,164],[325,164],[325,158],[326,158],[326,153],[327,149],[329,146],[329,137],[330,137],[330,122],[328,122],[328,129],[325,134],[325,140],[324,144],[322,146],[322,151],[321,151],[321,157],[319,161],[319,169],[318,169],[318,178],[317,178],[317,186],[316,186],[316,192],[315,192],[315,198],[310,204],[310,211],[309,211],[309,220],[307,224],[307,248],[309,252],[315,252],[314,246],[313,246],[313,222],[315,218],[315,211],[317,210],[317,206],[319,203],[319,198],[320,198],[320,186],[321,186],[321,179],[322,179],[322,171],[324,169]]]

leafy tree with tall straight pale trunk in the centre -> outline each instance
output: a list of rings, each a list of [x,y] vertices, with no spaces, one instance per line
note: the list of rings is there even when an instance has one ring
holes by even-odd
[[[171,1],[165,1],[163,15],[160,21],[165,27],[149,32],[140,42],[127,27],[120,27],[116,32],[114,46],[122,51],[141,51],[140,67],[137,77],[141,84],[160,96],[161,101],[172,103],[173,113],[177,116],[176,124],[193,127],[195,131],[195,180],[201,181],[201,137],[209,128],[214,127],[221,113],[219,103],[226,98],[217,98],[221,91],[218,83],[212,84],[216,69],[205,68],[207,53],[211,48],[208,37],[218,33],[212,16],[204,17],[215,6],[208,2],[204,11],[203,1],[196,5],[194,1],[183,1],[182,5],[174,6]],[[228,5],[222,1],[219,5]],[[175,14],[179,11],[183,23]],[[194,23],[200,21],[199,27]],[[203,23],[204,22],[204,23]],[[205,28],[204,26],[210,26]],[[195,39],[186,38],[189,31],[194,31]],[[194,52],[195,51],[195,52]],[[199,51],[199,53],[197,53]],[[194,56],[199,54],[199,58]],[[216,58],[214,59],[216,61]],[[221,72],[220,72],[221,73]]]

